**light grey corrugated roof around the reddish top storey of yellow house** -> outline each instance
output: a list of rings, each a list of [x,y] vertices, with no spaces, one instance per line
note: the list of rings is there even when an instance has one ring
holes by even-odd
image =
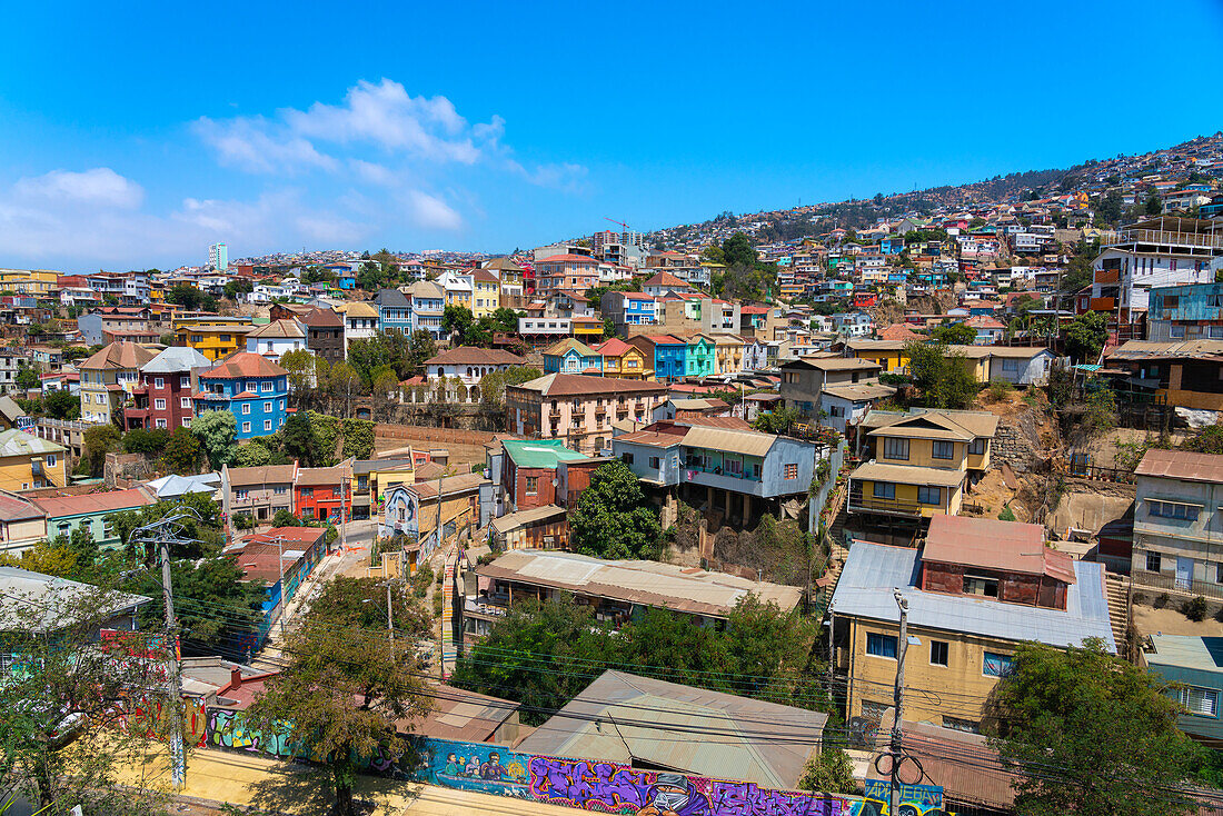
[[[909,599],[909,623],[914,626],[1002,640],[1033,640],[1058,647],[1077,646],[1087,637],[1098,637],[1110,652],[1117,652],[1101,564],[1074,562],[1077,580],[1066,588],[1065,609],[925,592],[917,588],[920,569],[916,549],[855,541],[837,582],[833,607],[838,615],[899,624],[893,591],[900,588]]]

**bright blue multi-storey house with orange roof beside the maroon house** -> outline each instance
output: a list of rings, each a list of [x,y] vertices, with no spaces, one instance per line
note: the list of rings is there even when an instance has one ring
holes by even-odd
[[[289,409],[289,372],[249,351],[230,355],[216,367],[199,373],[201,393],[196,415],[230,411],[237,438],[267,437],[285,425]]]

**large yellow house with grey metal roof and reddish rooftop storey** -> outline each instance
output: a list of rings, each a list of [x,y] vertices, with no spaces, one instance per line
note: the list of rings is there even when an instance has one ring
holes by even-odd
[[[907,603],[899,642],[898,592]],[[1103,565],[1044,546],[1040,525],[938,516],[918,548],[855,542],[829,606],[849,717],[893,705],[905,651],[905,718],[980,732],[1016,647],[1087,637],[1115,652]]]

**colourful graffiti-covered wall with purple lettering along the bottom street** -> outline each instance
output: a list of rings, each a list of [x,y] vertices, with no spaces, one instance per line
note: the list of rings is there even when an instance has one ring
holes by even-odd
[[[242,727],[238,712],[208,710],[207,744],[213,747],[294,755],[283,738]],[[421,739],[404,766],[389,754],[369,757],[361,770],[477,793],[530,799],[599,814],[629,816],[884,816],[887,796],[808,794],[759,788],[751,782],[636,771],[615,762],[519,754],[488,743]],[[898,816],[943,816],[942,789],[911,785]],[[876,794],[876,795],[872,795]]]

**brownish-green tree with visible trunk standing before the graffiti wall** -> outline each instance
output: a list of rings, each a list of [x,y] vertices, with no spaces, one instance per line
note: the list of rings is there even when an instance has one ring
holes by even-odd
[[[243,717],[257,732],[284,732],[295,756],[322,757],[331,772],[335,810],[355,816],[356,757],[410,751],[396,723],[423,717],[428,691],[415,646],[307,615],[285,639],[289,664]]]

